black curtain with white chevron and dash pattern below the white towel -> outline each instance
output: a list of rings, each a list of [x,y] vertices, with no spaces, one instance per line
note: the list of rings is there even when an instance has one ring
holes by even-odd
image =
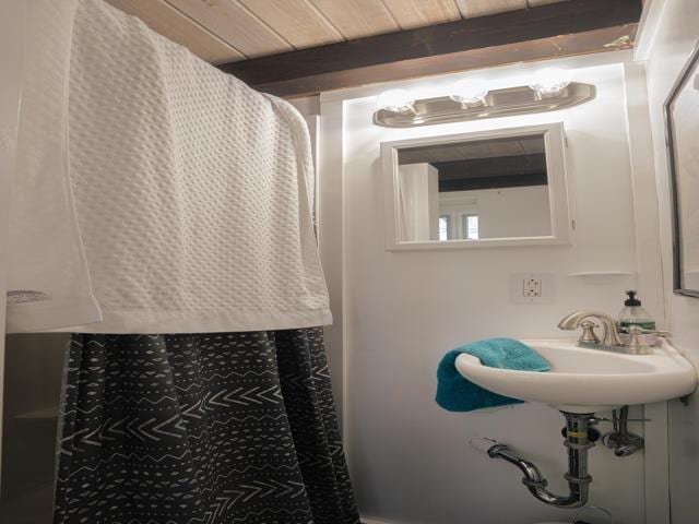
[[[75,334],[55,524],[358,524],[322,329]]]

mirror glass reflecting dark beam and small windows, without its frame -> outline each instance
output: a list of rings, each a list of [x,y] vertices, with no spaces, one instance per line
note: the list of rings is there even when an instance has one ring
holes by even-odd
[[[546,237],[544,133],[398,148],[403,242]]]

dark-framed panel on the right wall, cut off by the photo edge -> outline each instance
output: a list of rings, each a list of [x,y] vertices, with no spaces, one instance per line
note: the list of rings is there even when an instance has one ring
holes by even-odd
[[[673,287],[699,297],[699,47],[665,103],[673,214]]]

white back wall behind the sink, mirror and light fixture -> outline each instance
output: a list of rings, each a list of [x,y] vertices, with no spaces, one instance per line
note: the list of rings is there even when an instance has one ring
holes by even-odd
[[[625,69],[620,63],[608,63],[628,58],[587,57],[564,62],[579,67],[573,79],[594,83],[597,97],[576,108],[537,116],[387,129],[371,123],[375,95],[387,86],[363,90],[359,95],[321,97],[323,128],[330,132],[323,133],[321,156],[333,158],[329,163],[332,170],[327,166],[321,171],[321,184],[327,176],[336,179],[337,166],[342,165],[343,171],[339,188],[344,221],[340,227],[336,223],[329,226],[335,236],[343,237],[342,264],[340,269],[325,264],[325,271],[343,282],[345,439],[365,515],[415,524],[522,524],[572,516],[535,501],[517,471],[477,455],[466,443],[475,434],[501,439],[537,461],[553,487],[564,489],[560,415],[537,405],[491,413],[446,413],[434,402],[435,371],[446,350],[467,341],[495,335],[560,336],[558,320],[580,308],[616,314],[623,291],[639,285],[637,249],[654,239],[640,231],[642,241],[637,241],[636,170],[631,166],[649,165],[652,158],[650,152],[636,150],[631,162]],[[606,64],[592,67],[597,63]],[[499,68],[487,74],[510,85],[526,84],[535,68]],[[455,78],[459,75],[395,85],[431,96],[443,94]],[[324,121],[325,114],[332,116],[332,129]],[[557,121],[564,121],[569,142],[568,177],[576,221],[572,247],[384,250],[380,142]],[[336,126],[341,126],[341,133]],[[632,275],[594,283],[569,276],[599,271]],[[519,272],[554,274],[555,302],[511,303],[509,275]],[[659,276],[647,279],[641,293],[649,289],[644,305],[662,319]],[[644,483],[653,483],[653,476],[644,478],[643,467],[642,454],[620,460],[602,446],[592,450],[592,502],[609,508],[620,523],[642,523]],[[662,484],[655,488],[660,492],[664,489]]]

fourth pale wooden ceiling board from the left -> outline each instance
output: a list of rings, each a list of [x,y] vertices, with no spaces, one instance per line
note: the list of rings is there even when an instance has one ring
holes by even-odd
[[[309,0],[347,39],[400,31],[381,0]]]

